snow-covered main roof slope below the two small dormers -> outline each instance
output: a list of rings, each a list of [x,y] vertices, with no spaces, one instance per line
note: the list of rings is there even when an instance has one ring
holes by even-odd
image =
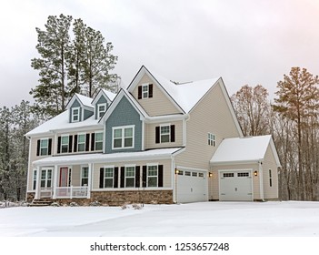
[[[65,110],[63,113],[55,116],[42,125],[32,129],[31,131],[27,132],[25,136],[31,137],[35,135],[45,135],[52,131],[61,129],[76,129],[76,128],[93,128],[98,125],[98,119],[95,119],[94,116],[88,117],[84,121],[79,122],[69,122],[69,111]]]

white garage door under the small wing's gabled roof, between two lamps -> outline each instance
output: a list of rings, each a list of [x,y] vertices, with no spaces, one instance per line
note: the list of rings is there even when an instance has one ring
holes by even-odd
[[[219,200],[252,201],[253,179],[251,169],[220,170]]]

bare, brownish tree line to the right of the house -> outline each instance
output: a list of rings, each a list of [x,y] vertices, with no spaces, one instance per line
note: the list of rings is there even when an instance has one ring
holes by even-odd
[[[277,83],[274,102],[261,85],[245,85],[231,97],[244,136],[274,138],[282,164],[280,199],[319,199],[318,85],[318,76],[292,67]]]

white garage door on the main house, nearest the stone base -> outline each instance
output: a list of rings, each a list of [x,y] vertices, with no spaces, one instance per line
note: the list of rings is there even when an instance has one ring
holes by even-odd
[[[207,173],[198,170],[179,170],[176,176],[177,202],[199,202],[208,200]]]

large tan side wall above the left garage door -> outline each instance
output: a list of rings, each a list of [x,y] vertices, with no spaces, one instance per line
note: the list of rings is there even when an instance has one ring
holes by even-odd
[[[221,85],[222,86],[222,85]],[[215,85],[194,107],[186,122],[186,149],[175,158],[177,165],[209,169],[209,160],[224,138],[239,137],[222,88]],[[213,133],[216,146],[208,145],[208,133]]]

